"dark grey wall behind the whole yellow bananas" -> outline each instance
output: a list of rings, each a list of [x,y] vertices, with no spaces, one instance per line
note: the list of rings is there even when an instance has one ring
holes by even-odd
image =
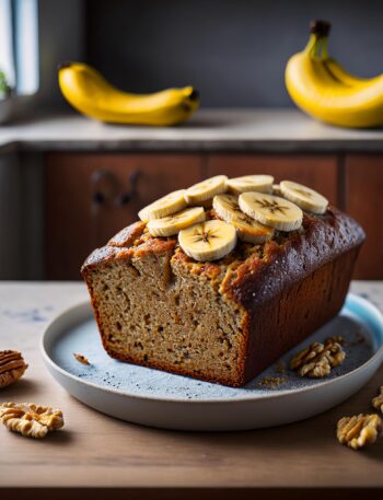
[[[88,60],[134,92],[193,84],[205,107],[290,106],[285,65],[315,18],[346,68],[383,72],[383,0],[88,0]]]

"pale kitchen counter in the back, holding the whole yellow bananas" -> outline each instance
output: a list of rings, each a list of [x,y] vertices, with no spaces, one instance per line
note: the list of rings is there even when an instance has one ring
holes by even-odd
[[[0,126],[1,151],[383,151],[383,129],[327,126],[298,109],[200,109],[169,128],[106,125],[74,112]]]

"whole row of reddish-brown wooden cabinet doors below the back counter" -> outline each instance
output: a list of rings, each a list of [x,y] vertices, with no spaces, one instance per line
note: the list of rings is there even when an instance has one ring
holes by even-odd
[[[45,276],[79,279],[89,253],[172,190],[217,174],[271,174],[317,189],[367,232],[356,278],[383,279],[383,155],[50,153],[45,159]]]

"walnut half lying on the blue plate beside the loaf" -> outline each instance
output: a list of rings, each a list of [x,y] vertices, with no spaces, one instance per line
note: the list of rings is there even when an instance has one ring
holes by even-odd
[[[300,376],[313,379],[329,375],[332,368],[340,364],[346,358],[346,352],[335,339],[329,337],[325,344],[311,344],[292,358],[291,370],[297,370]]]

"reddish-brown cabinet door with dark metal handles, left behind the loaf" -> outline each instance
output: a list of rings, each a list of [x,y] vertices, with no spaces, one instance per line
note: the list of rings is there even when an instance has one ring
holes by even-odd
[[[90,254],[143,206],[202,178],[199,155],[50,153],[45,158],[45,275],[79,279]]]

